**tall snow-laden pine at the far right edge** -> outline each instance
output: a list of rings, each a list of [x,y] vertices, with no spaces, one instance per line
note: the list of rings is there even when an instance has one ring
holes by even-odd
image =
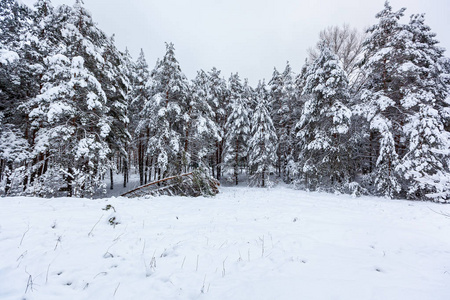
[[[397,167],[410,199],[450,199],[449,132],[445,130],[448,90],[440,62],[444,50],[425,24],[424,15],[411,16],[402,36],[407,37],[400,66],[403,80],[400,105],[407,117],[402,128],[405,154]]]

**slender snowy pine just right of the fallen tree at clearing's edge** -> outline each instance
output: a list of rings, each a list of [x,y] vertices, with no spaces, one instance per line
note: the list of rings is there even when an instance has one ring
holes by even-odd
[[[226,166],[232,170],[235,184],[239,183],[239,169],[245,167],[248,155],[248,135],[250,119],[248,99],[243,97],[244,89],[239,75],[232,74],[229,79],[230,115],[225,124],[225,159]]]

